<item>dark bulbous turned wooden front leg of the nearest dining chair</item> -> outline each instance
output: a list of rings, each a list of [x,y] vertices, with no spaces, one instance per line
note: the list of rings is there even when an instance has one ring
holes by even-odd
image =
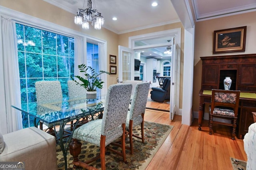
[[[72,138],[72,141],[69,144],[69,152],[74,157],[73,164],[79,162],[78,156],[81,153],[82,143],[77,139]],[[78,168],[79,166],[73,165],[73,168]]]

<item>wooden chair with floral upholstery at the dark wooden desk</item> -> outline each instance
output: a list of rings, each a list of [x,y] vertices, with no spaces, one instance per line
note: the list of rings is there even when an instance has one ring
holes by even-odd
[[[212,89],[212,99],[209,107],[209,134],[213,132],[213,123],[228,125],[233,127],[231,138],[235,140],[239,97],[240,91]],[[229,119],[231,123],[214,121],[213,118]]]

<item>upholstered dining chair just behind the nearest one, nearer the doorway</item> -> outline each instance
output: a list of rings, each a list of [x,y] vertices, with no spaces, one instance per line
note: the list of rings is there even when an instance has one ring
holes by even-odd
[[[130,153],[133,154],[133,141],[132,136],[139,138],[144,143],[144,113],[146,109],[149,83],[138,83],[134,89],[134,96],[132,98],[132,103],[130,111],[128,111],[126,118],[126,128],[129,131],[130,140]],[[141,137],[132,133],[132,128],[140,125],[141,127]]]

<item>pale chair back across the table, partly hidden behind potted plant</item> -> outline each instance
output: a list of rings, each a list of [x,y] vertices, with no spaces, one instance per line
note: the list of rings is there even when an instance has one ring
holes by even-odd
[[[68,97],[86,96],[86,89],[76,84],[73,80],[68,80]]]

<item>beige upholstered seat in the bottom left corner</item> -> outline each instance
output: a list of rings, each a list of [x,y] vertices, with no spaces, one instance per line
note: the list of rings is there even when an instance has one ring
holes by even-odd
[[[0,162],[22,162],[26,170],[56,170],[56,138],[36,127],[0,134]]]

